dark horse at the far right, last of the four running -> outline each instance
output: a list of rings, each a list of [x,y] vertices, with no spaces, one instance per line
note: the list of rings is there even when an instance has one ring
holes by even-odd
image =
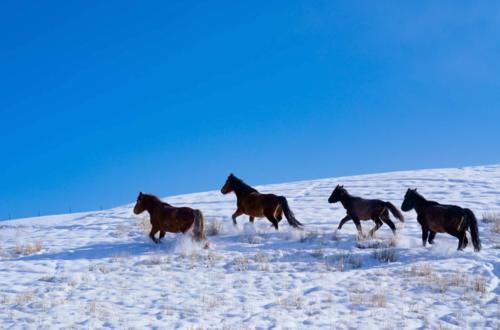
[[[433,244],[436,233],[448,233],[458,238],[457,250],[463,250],[468,244],[466,231],[469,230],[474,251],[481,250],[477,219],[470,209],[426,200],[417,189],[406,191],[401,209],[405,212],[415,209],[417,212],[417,221],[422,227],[423,246],[427,241]]]

